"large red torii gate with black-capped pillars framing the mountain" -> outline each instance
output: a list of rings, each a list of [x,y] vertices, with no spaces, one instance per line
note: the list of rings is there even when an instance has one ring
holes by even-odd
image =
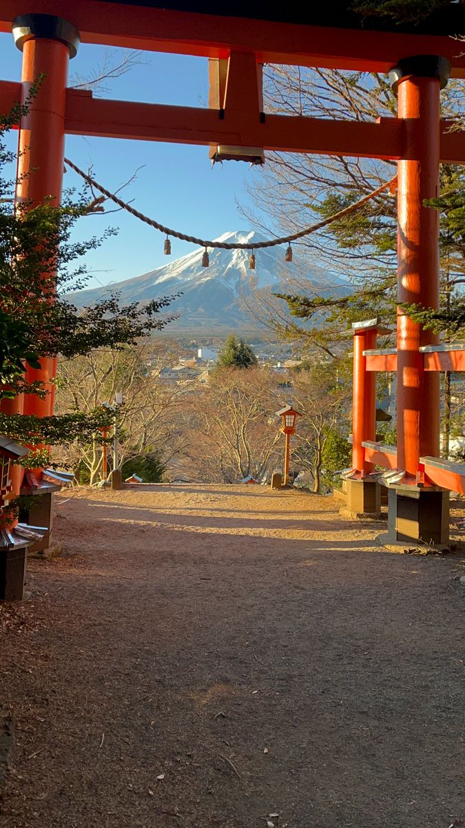
[[[220,156],[242,147],[245,157],[265,149],[395,159],[399,300],[439,305],[439,219],[435,210],[424,208],[423,200],[438,195],[439,161],[465,163],[463,132],[448,132],[439,114],[439,90],[449,75],[465,77],[465,55],[458,54],[458,43],[448,36],[463,31],[459,25],[463,7],[448,7],[450,28],[444,28],[444,23],[443,31],[436,33],[441,28],[436,21],[418,34],[357,27],[344,2],[320,4],[309,11],[291,7],[278,15],[263,0],[252,8],[237,0],[232,7],[236,17],[228,17],[218,14],[212,0],[160,4],[74,0],[67,8],[70,21],[61,17],[64,5],[62,0],[1,3],[0,31],[13,32],[23,60],[21,84],[0,82],[0,111],[24,100],[31,82],[46,75],[20,124],[18,173],[27,175],[17,187],[17,198],[32,203],[50,195],[60,199],[66,133],[204,144],[215,147],[213,152]],[[334,19],[340,28],[333,26]],[[94,100],[89,91],[67,89],[68,64],[79,41],[208,57],[210,108]],[[391,71],[398,117],[358,123],[263,113],[263,63]],[[444,489],[465,491],[465,468],[439,460],[438,372],[465,369],[465,358],[458,349],[441,349],[434,335],[404,313],[398,318],[396,353],[376,352],[377,325],[372,320],[354,331],[348,507],[352,513],[367,511],[376,487],[369,476],[373,464],[385,465],[395,469],[388,481],[391,540],[444,542],[448,537]],[[394,453],[376,444],[371,372],[386,369],[397,371]],[[55,376],[55,362],[44,359],[41,370],[28,369],[28,375],[48,383]],[[47,416],[53,410],[53,394],[44,400],[18,397],[2,407]]]

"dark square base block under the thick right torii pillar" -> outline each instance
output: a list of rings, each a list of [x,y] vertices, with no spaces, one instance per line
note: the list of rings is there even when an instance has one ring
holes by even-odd
[[[442,489],[389,489],[386,543],[448,544],[449,493]]]

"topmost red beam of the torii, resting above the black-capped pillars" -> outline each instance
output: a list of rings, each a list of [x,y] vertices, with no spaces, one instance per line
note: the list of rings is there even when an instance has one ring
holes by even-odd
[[[31,11],[65,15],[84,43],[203,57],[251,51],[259,63],[367,72],[387,72],[408,55],[443,55],[451,61],[453,75],[465,76],[465,55],[449,37],[304,26],[96,0],[70,3],[66,10],[63,0],[34,0],[32,5],[2,0],[0,31],[11,31],[12,20]]]

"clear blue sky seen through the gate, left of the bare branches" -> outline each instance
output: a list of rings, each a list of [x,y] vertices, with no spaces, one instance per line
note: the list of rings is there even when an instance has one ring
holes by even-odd
[[[71,80],[72,75],[93,75],[102,64],[103,53],[101,46],[81,44],[78,55],[70,61]],[[12,37],[0,34],[0,79],[20,79],[21,60]],[[142,63],[127,75],[110,80],[102,97],[205,105],[207,60],[156,52],[141,52],[140,60]],[[12,146],[16,144],[16,135],[12,142]],[[228,230],[248,227],[237,209],[237,201],[242,205],[250,202],[245,185],[253,185],[259,173],[247,164],[233,161],[212,169],[208,147],[67,136],[66,154],[84,170],[92,163],[94,176],[109,190],[116,189],[138,166],[145,165],[122,197],[132,199],[137,209],[170,227],[202,238],[216,238]],[[74,185],[80,186],[80,180],[69,171],[65,186]],[[161,233],[123,212],[82,219],[79,235],[86,238],[98,234],[106,225],[119,228],[119,233],[89,255],[89,269],[93,272],[89,286],[132,278],[167,262]],[[193,249],[188,243],[172,241],[173,258]]]

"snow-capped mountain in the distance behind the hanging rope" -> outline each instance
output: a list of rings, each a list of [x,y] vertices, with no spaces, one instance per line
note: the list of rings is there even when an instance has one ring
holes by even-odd
[[[265,241],[254,231],[223,233],[215,241],[247,244]],[[294,262],[285,262],[285,247],[256,250],[256,269],[249,268],[249,250],[209,248],[209,267],[202,266],[204,248],[156,267],[142,276],[127,279],[107,287],[79,291],[69,296],[75,305],[83,307],[103,296],[117,291],[122,304],[141,302],[182,292],[167,312],[180,314],[169,326],[170,334],[180,331],[203,332],[251,330],[256,322],[247,311],[247,298],[253,291],[292,291],[292,286],[305,278],[314,290],[322,294],[340,291],[338,277],[328,279],[324,272],[312,271],[300,252],[295,250]],[[252,286],[253,280],[253,286]]]

